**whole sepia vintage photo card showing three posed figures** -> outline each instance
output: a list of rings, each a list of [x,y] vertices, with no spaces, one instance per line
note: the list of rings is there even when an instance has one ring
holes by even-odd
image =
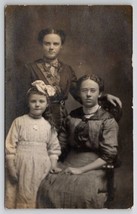
[[[132,15],[5,7],[5,208],[133,206]]]

